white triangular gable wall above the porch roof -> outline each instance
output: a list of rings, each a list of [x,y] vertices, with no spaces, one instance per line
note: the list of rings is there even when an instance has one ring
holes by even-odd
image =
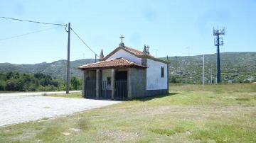
[[[142,59],[141,58],[136,57],[136,56],[134,56],[134,55],[130,54],[129,52],[126,52],[122,49],[118,50],[117,52],[115,52],[112,56],[110,56],[107,59],[117,59],[119,57],[127,59],[131,62],[135,62],[137,64],[142,64]]]

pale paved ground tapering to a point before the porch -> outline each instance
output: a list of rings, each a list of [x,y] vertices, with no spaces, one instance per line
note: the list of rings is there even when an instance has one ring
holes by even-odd
[[[0,126],[69,115],[82,110],[100,108],[120,101],[85,98],[59,98],[18,93],[0,94]]]

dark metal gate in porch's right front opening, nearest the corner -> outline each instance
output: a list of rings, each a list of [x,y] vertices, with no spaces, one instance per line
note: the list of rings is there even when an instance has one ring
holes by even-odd
[[[127,81],[114,81],[114,99],[127,99]]]

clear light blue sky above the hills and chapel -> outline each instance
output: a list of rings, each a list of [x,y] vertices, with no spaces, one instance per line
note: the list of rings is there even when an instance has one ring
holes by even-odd
[[[95,52],[124,44],[151,47],[158,57],[215,53],[213,26],[225,26],[221,52],[256,51],[256,0],[238,1],[1,1],[0,15],[71,27]],[[67,58],[65,27],[0,19],[0,63],[34,64]],[[46,30],[19,38],[14,35]],[[70,59],[94,58],[71,33]]]

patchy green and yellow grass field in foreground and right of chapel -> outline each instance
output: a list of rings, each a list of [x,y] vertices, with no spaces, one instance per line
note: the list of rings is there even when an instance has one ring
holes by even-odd
[[[170,94],[0,127],[0,142],[256,142],[256,85],[174,85]]]

